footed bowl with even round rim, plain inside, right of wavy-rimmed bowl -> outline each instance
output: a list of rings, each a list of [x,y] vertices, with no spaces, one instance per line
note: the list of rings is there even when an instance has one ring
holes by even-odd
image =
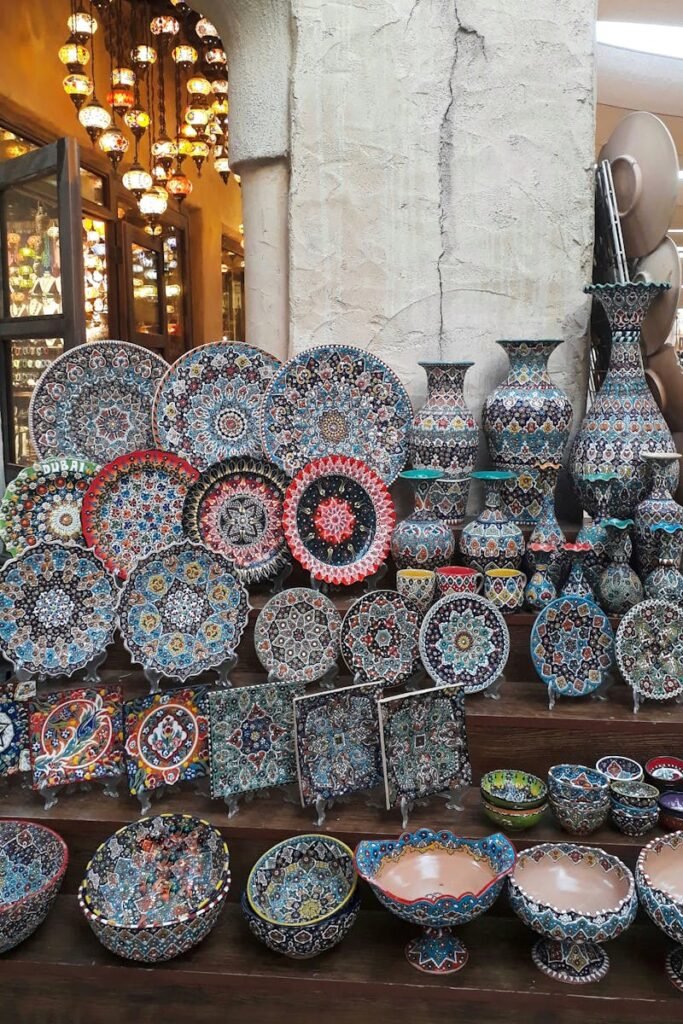
[[[543,936],[533,963],[556,981],[598,981],[609,969],[601,943],[633,924],[638,897],[633,874],[604,850],[544,843],[519,854],[509,881],[510,903]]]

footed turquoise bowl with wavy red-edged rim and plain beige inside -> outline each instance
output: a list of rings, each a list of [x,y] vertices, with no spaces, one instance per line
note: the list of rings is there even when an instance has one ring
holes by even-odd
[[[493,906],[514,863],[514,847],[500,833],[469,840],[420,828],[397,840],[364,840],[355,850],[356,870],[380,903],[425,929],[405,956],[433,974],[465,966],[467,949],[451,927]]]

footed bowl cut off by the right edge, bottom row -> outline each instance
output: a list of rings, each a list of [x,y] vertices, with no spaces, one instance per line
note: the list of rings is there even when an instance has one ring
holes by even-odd
[[[643,847],[636,864],[640,902],[655,925],[683,943],[683,831],[653,839]],[[683,945],[667,957],[667,974],[683,990]]]

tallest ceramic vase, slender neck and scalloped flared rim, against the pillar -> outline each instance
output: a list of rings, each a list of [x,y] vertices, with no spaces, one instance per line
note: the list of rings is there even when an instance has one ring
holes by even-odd
[[[587,473],[614,472],[618,488],[613,516],[631,517],[647,492],[643,450],[675,452],[665,419],[650,394],[640,354],[640,328],[655,296],[669,285],[629,283],[593,285],[586,291],[601,302],[611,329],[611,352],[604,383],[584,417],[571,449],[569,469],[583,507],[592,515],[595,505],[584,483]],[[668,473],[671,489],[678,466]]]

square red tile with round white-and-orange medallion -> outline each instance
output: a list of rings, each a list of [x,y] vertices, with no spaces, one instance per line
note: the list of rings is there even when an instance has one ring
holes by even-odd
[[[126,771],[133,796],[209,774],[206,694],[198,687],[126,701]]]

